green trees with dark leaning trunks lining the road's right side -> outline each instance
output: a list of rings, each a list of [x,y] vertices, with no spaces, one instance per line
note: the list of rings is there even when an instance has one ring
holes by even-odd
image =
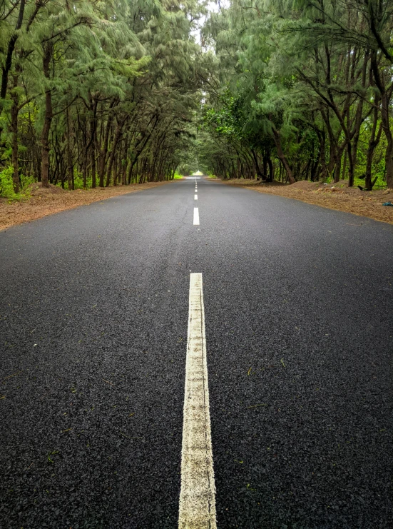
[[[222,178],[352,185],[367,173],[392,187],[392,6],[232,0],[212,14],[199,161]]]

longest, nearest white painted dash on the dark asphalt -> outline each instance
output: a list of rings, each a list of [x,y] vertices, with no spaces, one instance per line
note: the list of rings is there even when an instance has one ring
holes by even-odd
[[[217,529],[202,274],[190,274],[179,529]]]

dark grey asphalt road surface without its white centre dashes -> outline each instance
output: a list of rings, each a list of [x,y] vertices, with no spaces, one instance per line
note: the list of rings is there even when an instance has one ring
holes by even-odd
[[[0,232],[0,528],[177,528],[190,272],[218,529],[392,528],[392,235],[203,179]]]

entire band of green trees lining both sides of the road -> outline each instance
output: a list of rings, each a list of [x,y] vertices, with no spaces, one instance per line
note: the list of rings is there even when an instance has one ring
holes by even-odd
[[[393,187],[392,2],[210,4],[0,0],[0,173],[14,192],[198,168]]]

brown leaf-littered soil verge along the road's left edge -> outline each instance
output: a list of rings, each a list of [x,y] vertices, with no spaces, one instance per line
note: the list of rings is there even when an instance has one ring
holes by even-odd
[[[10,203],[6,198],[0,198],[0,230],[113,196],[163,186],[165,183],[168,182],[134,183],[130,186],[76,189],[75,191],[66,191],[58,186],[43,188],[40,183],[32,183],[29,186],[30,197],[26,196],[26,199]]]

